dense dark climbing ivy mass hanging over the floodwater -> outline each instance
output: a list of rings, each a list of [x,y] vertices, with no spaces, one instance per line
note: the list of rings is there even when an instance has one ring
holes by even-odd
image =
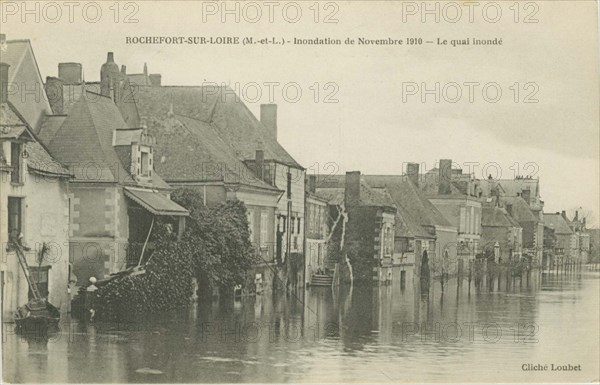
[[[179,189],[171,199],[190,211],[180,240],[169,225],[159,220],[152,230],[155,251],[142,275],[124,275],[97,291],[98,318],[121,319],[185,307],[197,278],[200,296],[210,296],[243,284],[257,262],[250,242],[246,207],[226,201],[216,207],[203,205],[192,189]]]

